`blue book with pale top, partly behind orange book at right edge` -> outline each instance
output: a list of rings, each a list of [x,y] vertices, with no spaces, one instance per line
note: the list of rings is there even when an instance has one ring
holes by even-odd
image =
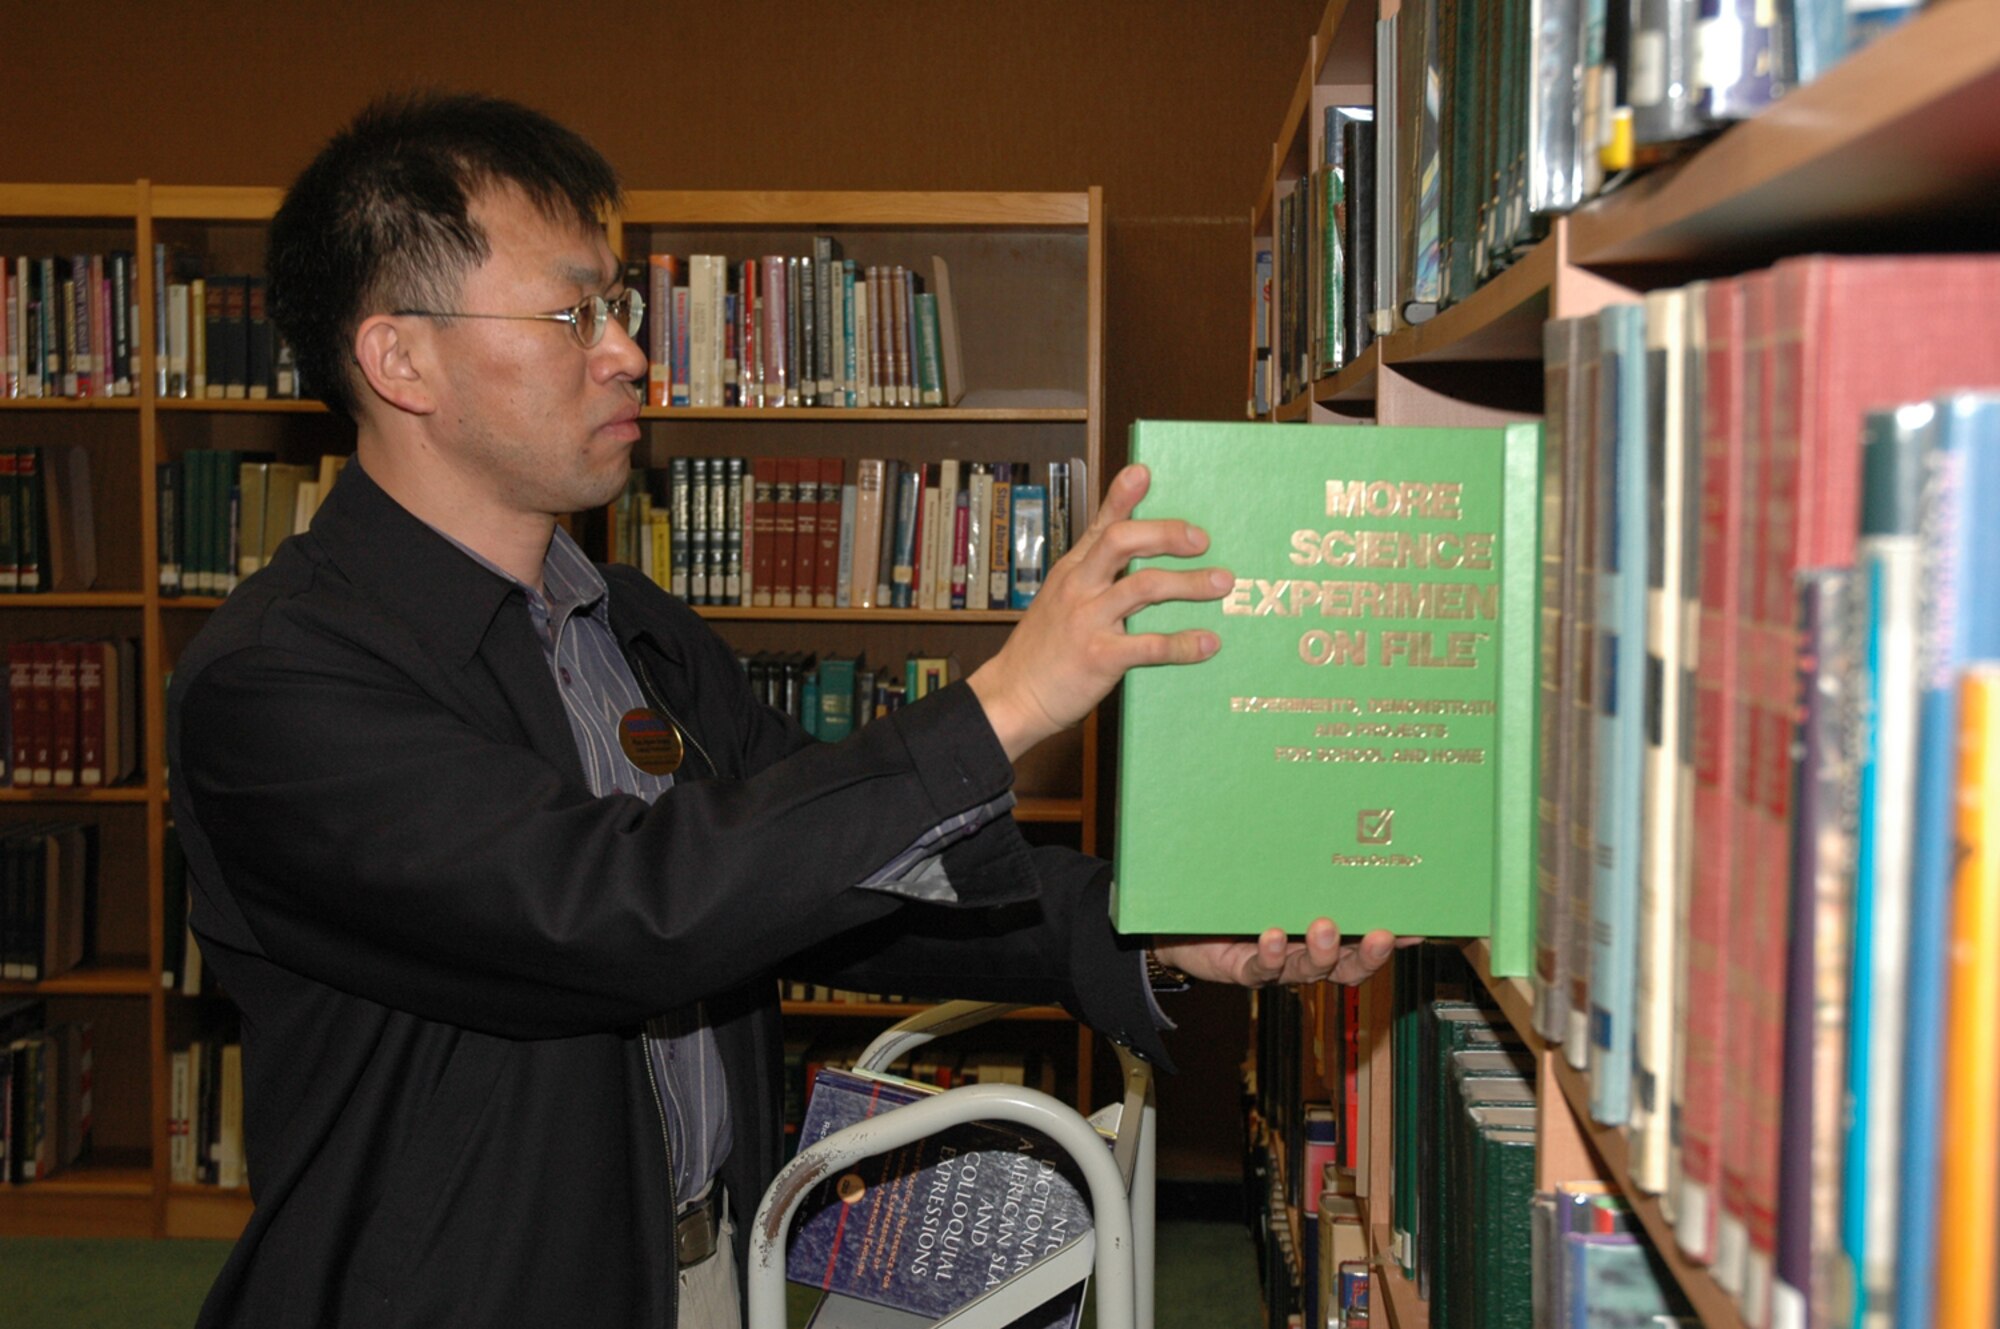
[[[1938,1109],[1944,1097],[1944,971],[1956,853],[1958,671],[2000,658],[2000,396],[1938,400],[1920,514],[1916,831],[1910,853],[1910,1007],[1896,1323],[1930,1325],[1938,1281]]]

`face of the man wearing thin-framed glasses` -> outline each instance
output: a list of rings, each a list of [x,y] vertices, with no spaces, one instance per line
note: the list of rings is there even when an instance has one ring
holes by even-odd
[[[550,222],[514,188],[472,204],[492,254],[466,274],[454,310],[546,314],[620,290],[596,228]],[[458,318],[438,326],[432,434],[460,482],[500,512],[576,512],[610,502],[638,440],[646,354],[612,322],[588,350],[564,322]]]

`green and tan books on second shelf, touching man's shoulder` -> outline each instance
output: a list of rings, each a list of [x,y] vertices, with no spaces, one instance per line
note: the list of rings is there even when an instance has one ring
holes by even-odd
[[[160,594],[228,594],[312,524],[346,456],[316,464],[268,452],[188,448],[154,472]]]

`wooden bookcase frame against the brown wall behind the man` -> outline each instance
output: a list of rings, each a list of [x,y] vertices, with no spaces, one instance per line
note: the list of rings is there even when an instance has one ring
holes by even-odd
[[[210,272],[260,272],[278,188],[132,184],[0,184],[0,252],[130,250],[136,268],[140,376],[132,396],[0,400],[0,446],[80,444],[92,462],[98,582],[88,592],[0,594],[0,644],[48,636],[128,636],[138,642],[140,775],[96,791],[0,789],[0,829],[82,819],[100,829],[98,923],[84,967],[42,983],[0,981],[0,997],[40,997],[50,1019],[94,1025],[96,1121],[86,1159],[56,1177],[0,1187],[0,1235],[234,1237],[246,1191],[172,1183],[168,1175],[170,1053],[200,1027],[200,1005],[162,989],[166,901],[164,689],[178,652],[222,600],[158,588],[156,462],[190,448],[266,450],[312,462],[350,452],[352,432],[310,400],[186,400],[154,390],[156,242],[204,254]],[[686,410],[648,408],[642,452],[784,452],[1054,460],[1082,456],[1102,486],[1104,214],[1098,190],[1074,194],[922,192],[668,192],[634,190],[608,218],[614,246],[646,252],[800,252],[832,230],[850,256],[870,246],[928,262],[946,254],[958,280],[966,376],[974,388],[1062,392],[1060,404],[1014,398],[958,408]],[[892,258],[900,260],[900,258]],[[1018,612],[702,610],[746,648],[802,642],[900,658],[918,642],[946,644],[970,669],[998,648]],[[762,644],[760,644],[762,642]],[[1030,837],[1090,849],[1096,839],[1096,727],[1028,755],[1018,771],[1018,821]],[[914,1007],[802,1003],[820,1025],[886,1023]],[[1018,1039],[1058,1055],[1082,1097],[1092,1035],[1062,1011],[1014,1017]],[[1068,1031],[1056,1025],[1068,1023]]]

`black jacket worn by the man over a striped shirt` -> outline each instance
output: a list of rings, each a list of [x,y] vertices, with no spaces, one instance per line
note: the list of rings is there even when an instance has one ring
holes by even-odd
[[[640,1027],[708,999],[746,1241],[782,1161],[780,967],[1060,1001],[1158,1055],[1102,863],[1002,817],[946,853],[956,907],[854,887],[1006,791],[968,689],[818,745],[682,602],[604,572],[700,745],[650,807],[590,795],[520,590],[360,466],[180,652],[174,819],[256,1197],[204,1325],[670,1325]]]

